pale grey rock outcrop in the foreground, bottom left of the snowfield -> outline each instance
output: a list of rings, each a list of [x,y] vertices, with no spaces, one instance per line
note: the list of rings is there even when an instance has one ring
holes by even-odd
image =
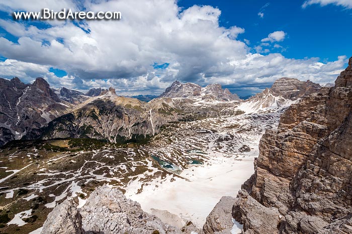
[[[118,189],[98,187],[82,208],[64,201],[49,213],[42,234],[176,234],[181,231],[163,223],[141,209],[139,203],[127,199]]]

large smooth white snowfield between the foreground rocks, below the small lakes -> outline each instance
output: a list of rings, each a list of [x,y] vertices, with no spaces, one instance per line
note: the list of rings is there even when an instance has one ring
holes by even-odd
[[[204,165],[185,169],[180,176],[186,179],[168,175],[162,181],[148,182],[139,194],[140,182],[135,179],[125,195],[147,212],[151,208],[167,210],[201,227],[220,198],[236,196],[241,184],[254,172],[254,157],[234,159],[235,156],[214,157]],[[175,180],[171,182],[171,178]]]

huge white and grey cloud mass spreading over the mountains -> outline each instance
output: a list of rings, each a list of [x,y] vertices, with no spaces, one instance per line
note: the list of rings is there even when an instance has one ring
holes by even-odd
[[[93,12],[116,10],[122,19],[50,22],[44,28],[0,20],[0,27],[16,38],[14,42],[0,37],[0,55],[7,58],[0,62],[0,77],[31,82],[43,76],[54,87],[79,90],[114,86],[121,95],[158,94],[174,80],[258,90],[283,76],[331,82],[346,63],[342,56],[316,66],[318,58],[288,59],[260,45],[250,48],[248,40],[238,39],[245,29],[221,27],[221,11],[211,6],[181,9],[174,0],[77,2],[1,1],[2,11],[69,6]],[[285,37],[285,32],[277,31],[262,42],[281,42]],[[67,75],[56,77],[51,67]]]

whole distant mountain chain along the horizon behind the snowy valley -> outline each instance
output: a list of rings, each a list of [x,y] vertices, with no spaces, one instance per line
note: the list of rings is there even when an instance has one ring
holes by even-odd
[[[53,89],[43,78],[24,84],[17,77],[0,79],[0,145],[19,139],[95,138],[138,142],[174,121],[195,120],[242,111],[288,106],[320,85],[292,78],[242,101],[219,84],[172,83],[149,102],[118,96],[115,89],[95,88],[86,94]]]

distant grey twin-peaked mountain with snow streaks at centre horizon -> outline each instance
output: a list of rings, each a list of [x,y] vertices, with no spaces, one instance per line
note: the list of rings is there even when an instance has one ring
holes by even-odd
[[[237,94],[232,94],[228,89],[222,89],[220,84],[210,84],[206,87],[193,83],[182,84],[175,81],[166,88],[160,97],[168,98],[202,98],[203,100],[239,101]]]

